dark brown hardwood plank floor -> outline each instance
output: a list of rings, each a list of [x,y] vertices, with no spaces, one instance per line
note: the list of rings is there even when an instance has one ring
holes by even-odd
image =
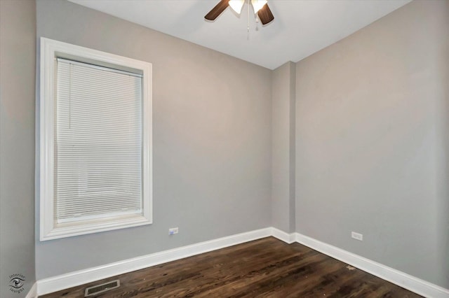
[[[41,297],[84,297],[84,290],[120,279],[96,297],[420,297],[299,243],[273,237],[187,257]]]

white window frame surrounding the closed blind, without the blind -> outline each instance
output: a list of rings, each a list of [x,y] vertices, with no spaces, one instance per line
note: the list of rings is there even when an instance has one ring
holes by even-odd
[[[55,222],[54,134],[55,61],[57,57],[142,74],[142,194],[139,215],[89,220],[76,224]],[[41,241],[152,223],[152,64],[78,45],[41,38],[39,117],[39,202]]]

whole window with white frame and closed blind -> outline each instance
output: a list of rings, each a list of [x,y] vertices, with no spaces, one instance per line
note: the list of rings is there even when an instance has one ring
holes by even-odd
[[[40,239],[152,223],[152,65],[41,38]]]

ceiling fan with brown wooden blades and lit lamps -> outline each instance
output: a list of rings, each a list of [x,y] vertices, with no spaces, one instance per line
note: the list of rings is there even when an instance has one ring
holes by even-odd
[[[204,18],[213,21],[221,15],[228,6],[230,6],[236,13],[240,14],[245,1],[246,0],[220,0],[220,2],[218,2],[218,4],[212,8]],[[274,20],[272,10],[269,9],[267,0],[251,0],[251,5],[253,6],[254,13],[257,13],[262,24],[268,24]]]

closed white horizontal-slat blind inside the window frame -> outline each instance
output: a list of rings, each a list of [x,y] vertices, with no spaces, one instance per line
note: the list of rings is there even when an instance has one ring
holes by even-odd
[[[142,77],[57,64],[56,223],[142,213]]]

